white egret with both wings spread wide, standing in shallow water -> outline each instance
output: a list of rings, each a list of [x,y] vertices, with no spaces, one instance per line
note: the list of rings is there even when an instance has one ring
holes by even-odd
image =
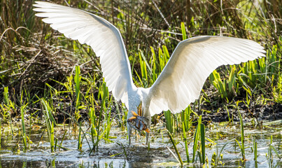
[[[90,45],[100,57],[101,71],[116,100],[129,110],[127,133],[145,130],[148,142],[151,116],[179,113],[198,99],[209,74],[223,64],[239,64],[265,57],[255,41],[225,36],[197,36],[181,41],[155,83],[136,87],[120,31],[107,20],[84,10],[36,1],[36,16],[64,36]],[[140,106],[140,107],[139,107]],[[137,111],[138,114],[137,114]]]

